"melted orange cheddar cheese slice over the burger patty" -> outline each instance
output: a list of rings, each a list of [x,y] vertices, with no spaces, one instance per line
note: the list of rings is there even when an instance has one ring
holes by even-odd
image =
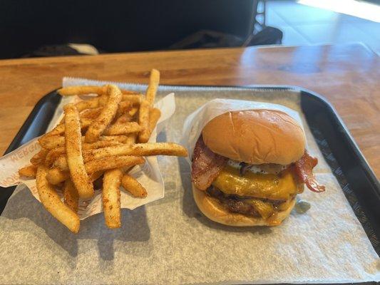
[[[227,195],[273,200],[288,200],[303,188],[289,168],[278,175],[245,172],[241,176],[239,170],[230,165],[220,172],[212,185]]]

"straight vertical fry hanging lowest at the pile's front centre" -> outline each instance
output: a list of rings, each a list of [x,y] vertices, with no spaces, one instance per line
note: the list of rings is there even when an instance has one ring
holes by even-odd
[[[121,227],[120,183],[123,172],[120,169],[107,170],[103,177],[103,210],[107,227]]]

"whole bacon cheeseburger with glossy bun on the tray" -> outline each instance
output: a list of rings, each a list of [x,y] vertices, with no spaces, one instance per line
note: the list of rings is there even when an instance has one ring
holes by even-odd
[[[312,173],[302,127],[279,110],[241,110],[208,122],[192,155],[192,193],[206,217],[230,226],[274,226],[289,216]]]

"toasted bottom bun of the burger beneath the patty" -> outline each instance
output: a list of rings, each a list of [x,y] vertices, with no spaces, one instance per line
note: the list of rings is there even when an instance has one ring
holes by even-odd
[[[232,213],[225,209],[220,202],[210,197],[205,191],[197,190],[195,185],[192,185],[192,195],[194,196],[195,203],[197,204],[200,212],[214,222],[226,224],[233,227],[253,227],[253,226],[272,226],[265,219],[257,217],[248,217],[244,214]],[[293,199],[287,210],[278,212],[277,220],[282,222],[286,219],[296,203]]]

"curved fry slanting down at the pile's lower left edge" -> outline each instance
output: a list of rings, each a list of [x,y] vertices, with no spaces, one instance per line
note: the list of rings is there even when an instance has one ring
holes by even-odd
[[[43,204],[43,207],[53,215],[53,217],[68,227],[71,232],[77,233],[80,225],[78,214],[73,212],[61,201],[57,192],[48,183],[48,180],[46,180],[47,173],[47,167],[43,165],[38,166],[36,186],[41,203]]]

